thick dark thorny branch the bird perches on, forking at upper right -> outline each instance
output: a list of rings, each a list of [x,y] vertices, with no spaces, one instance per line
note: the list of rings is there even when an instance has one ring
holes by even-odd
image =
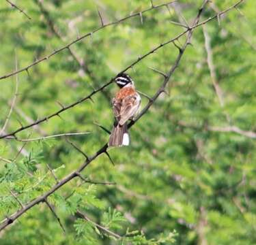
[[[229,7],[227,10],[219,13],[223,14],[225,12],[228,12],[229,10],[231,10],[233,7],[236,7],[237,5],[239,5],[240,3],[242,3],[243,0],[238,1],[238,3],[236,3],[235,5]],[[193,29],[195,29],[195,27],[199,27],[201,24],[205,24],[206,22],[217,18],[216,16],[213,16],[211,18],[208,18],[208,20],[205,20],[201,23],[199,23],[199,17],[201,16],[201,13],[203,12],[203,8],[205,7],[205,4],[208,3],[208,0],[203,1],[203,5],[201,6],[201,8],[199,9],[199,12],[197,14],[197,17],[195,18],[195,21],[193,23],[193,27],[190,27],[190,29],[188,29],[187,31],[185,31],[184,33],[188,33],[187,38],[186,38],[186,42],[185,44],[182,46],[182,48],[180,48],[180,52],[177,56],[177,59],[175,60],[175,63],[173,64],[173,66],[171,67],[171,69],[169,70],[169,72],[167,73],[167,77],[165,78],[165,80],[162,83],[162,86],[160,86],[160,88],[158,89],[158,91],[156,91],[155,95],[152,97],[152,100],[150,100],[147,105],[145,105],[145,108],[143,108],[143,110],[140,112],[140,114],[137,116],[137,118],[130,122],[130,124],[128,125],[128,127],[132,127],[132,125],[134,125],[134,123],[137,122],[137,120],[139,120],[146,112],[147,110],[150,109],[150,107],[153,105],[153,103],[156,101],[156,99],[158,99],[158,96],[163,93],[165,91],[165,86],[167,86],[169,79],[171,78],[173,72],[175,71],[175,69],[177,68],[177,66],[180,63],[180,60],[182,58],[182,55],[184,54],[184,51],[186,50],[186,47],[188,46],[188,44],[190,44],[190,39],[192,37],[193,34]],[[184,34],[180,34],[184,35]],[[171,39],[173,40],[173,39]],[[173,42],[169,40],[168,43]],[[160,47],[163,44],[160,45]],[[155,48],[155,50],[157,50],[158,48]],[[145,56],[149,55],[150,53],[154,52],[155,50],[152,50],[151,52],[145,54]],[[135,61],[134,63],[137,63],[141,61],[141,59],[138,59],[138,61]],[[131,65],[132,66],[132,65]],[[130,67],[131,67],[130,66]],[[129,68],[129,67],[128,67]],[[127,69],[128,69],[127,68]],[[111,80],[112,82],[112,80]],[[110,84],[111,82],[109,82],[108,84]],[[106,84],[104,85],[104,87],[107,86]],[[95,91],[93,93],[96,93]],[[85,100],[85,99],[83,99]],[[74,105],[72,105],[74,106]],[[69,108],[72,107],[71,105],[69,105]],[[11,134],[12,135],[12,134]],[[27,212],[27,210],[33,208],[33,206],[37,205],[38,203],[44,202],[48,196],[50,196],[51,194],[55,193],[55,191],[57,191],[59,188],[61,188],[61,186],[63,186],[64,184],[70,182],[70,180],[72,180],[73,178],[79,177],[80,178],[80,174],[81,171],[83,171],[83,169],[85,169],[85,167],[87,167],[92,161],[94,161],[94,159],[96,159],[97,157],[99,157],[102,153],[106,153],[106,150],[108,149],[108,144],[105,144],[104,146],[102,146],[102,148],[100,148],[100,150],[98,150],[93,156],[88,157],[85,162],[75,171],[73,171],[72,173],[68,174],[68,176],[66,176],[65,178],[63,178],[62,180],[59,180],[59,182],[57,184],[55,184],[55,186],[53,186],[49,191],[47,191],[46,193],[42,194],[41,196],[33,199],[33,201],[27,203],[26,206],[24,206],[23,208],[21,208],[20,210],[18,210],[17,212],[15,212],[14,214],[12,214],[10,217],[5,218],[0,225],[0,231],[5,229],[5,227],[8,227],[8,225],[12,224],[14,222],[14,220],[16,220],[18,217],[20,217],[21,215],[25,214],[25,212]]]

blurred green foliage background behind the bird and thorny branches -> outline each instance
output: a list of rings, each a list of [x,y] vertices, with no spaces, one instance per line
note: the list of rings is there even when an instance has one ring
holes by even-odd
[[[166,1],[153,1],[154,5]],[[184,31],[171,21],[191,23],[201,0],[183,0],[106,27],[51,59],[18,73],[18,95],[5,127],[12,132],[89,95],[119,71]],[[0,2],[0,76],[23,68],[100,27],[151,6],[148,0],[13,0],[30,17]],[[236,3],[214,0],[201,20]],[[218,20],[195,29],[192,44],[173,73],[167,94],[130,130],[131,145],[102,154],[83,176],[31,208],[0,233],[0,244],[256,244],[256,1],[244,1]],[[171,20],[171,21],[170,21]],[[180,44],[185,37],[180,38]],[[177,43],[178,44],[178,43]],[[169,44],[128,70],[137,89],[154,95],[177,56]],[[76,57],[74,59],[74,56]],[[15,58],[16,57],[16,58]],[[78,62],[79,61],[79,62]],[[80,64],[79,64],[80,63]],[[0,80],[0,128],[10,112],[16,76]],[[20,139],[58,133],[94,154],[111,129],[111,84],[103,92],[18,133]],[[217,91],[217,93],[216,93]],[[142,107],[147,103],[143,97]],[[0,218],[42,195],[57,178],[83,163],[63,137],[33,142],[0,140]],[[72,194],[70,196],[70,194]],[[70,196],[70,197],[69,197]],[[77,213],[113,231],[98,229]],[[175,240],[175,241],[174,241]]]

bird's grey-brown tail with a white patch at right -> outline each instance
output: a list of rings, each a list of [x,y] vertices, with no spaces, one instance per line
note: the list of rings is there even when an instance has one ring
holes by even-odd
[[[109,146],[128,146],[130,137],[128,134],[127,124],[114,125],[114,128],[109,137]]]

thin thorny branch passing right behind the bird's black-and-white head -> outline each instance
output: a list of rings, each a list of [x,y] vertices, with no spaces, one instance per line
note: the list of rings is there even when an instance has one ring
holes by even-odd
[[[209,22],[210,20],[213,20],[214,18],[217,18],[217,16],[221,16],[222,14],[225,14],[226,12],[228,12],[229,10],[231,10],[232,8],[236,7],[237,5],[239,5],[240,3],[242,3],[242,1],[244,0],[240,0],[238,1],[238,3],[232,5],[231,7],[229,7],[227,10],[224,10],[222,12],[219,12],[218,14],[216,14],[215,16],[212,16],[210,18],[208,18],[207,20],[204,20],[203,22],[199,22],[199,23],[195,23],[193,24],[192,27],[186,29],[186,31],[180,33],[179,35],[177,35],[176,37],[173,37],[172,39],[169,39],[167,42],[164,42],[162,44],[159,44],[158,46],[156,46],[155,48],[153,48],[152,50],[150,50],[149,52],[145,53],[143,56],[139,56],[139,58],[137,60],[135,60],[134,62],[132,62],[130,65],[128,65],[128,67],[126,67],[125,69],[123,69],[122,71],[120,71],[120,73],[123,73],[125,71],[127,71],[128,69],[131,69],[132,67],[134,67],[134,65],[136,65],[137,63],[139,63],[141,60],[145,59],[147,56],[149,56],[150,54],[154,54],[154,52],[156,52],[158,49],[162,48],[163,46],[166,46],[167,44],[171,44],[173,42],[175,42],[176,40],[180,39],[180,37],[182,37],[183,35],[185,35],[186,33],[189,33],[190,31],[193,31],[193,29]],[[160,5],[159,5],[160,6]],[[156,8],[156,6],[154,7]],[[146,10],[144,10],[145,12]],[[147,10],[148,11],[148,10]],[[104,25],[104,27],[106,27],[106,25]],[[1,78],[0,78],[1,79]],[[89,95],[87,95],[86,97],[83,97],[82,99],[79,99],[78,101],[75,101],[74,103],[67,105],[67,106],[63,106],[63,108],[61,108],[60,110],[58,110],[57,112],[46,116],[42,119],[36,120],[35,122],[31,123],[30,125],[24,126],[24,127],[20,127],[18,129],[16,129],[15,131],[13,131],[12,133],[7,133],[5,135],[0,135],[0,139],[3,139],[5,137],[9,137],[9,136],[14,136],[16,137],[16,133],[20,132],[20,131],[24,131],[25,129],[28,129],[30,127],[33,127],[35,125],[39,125],[42,122],[45,122],[55,116],[59,116],[59,114],[61,114],[62,112],[73,108],[74,106],[78,105],[79,103],[82,103],[83,101],[86,101],[87,99],[91,99],[91,97],[93,95],[95,95],[96,93],[102,91],[104,88],[106,88],[106,86],[109,86],[110,84],[112,84],[114,78],[111,78],[111,80],[109,82],[107,82],[106,84],[102,85],[100,88],[95,89],[94,91],[92,91]]]

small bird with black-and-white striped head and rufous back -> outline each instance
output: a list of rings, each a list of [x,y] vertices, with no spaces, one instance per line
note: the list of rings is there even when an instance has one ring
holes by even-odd
[[[127,122],[137,114],[141,105],[141,97],[128,74],[119,73],[115,77],[115,83],[120,89],[112,100],[115,122],[109,137],[109,146],[128,146],[130,137]]]

